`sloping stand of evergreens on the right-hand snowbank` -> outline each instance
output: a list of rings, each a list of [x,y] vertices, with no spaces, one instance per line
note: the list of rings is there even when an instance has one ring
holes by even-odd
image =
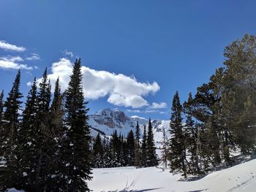
[[[225,47],[224,66],[181,104],[173,97],[167,159],[171,172],[205,174],[235,162],[234,152],[255,153],[256,37]]]

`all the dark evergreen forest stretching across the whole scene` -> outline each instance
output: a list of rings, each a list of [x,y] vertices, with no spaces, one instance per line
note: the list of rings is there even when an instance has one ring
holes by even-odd
[[[57,80],[50,92],[47,69],[40,81],[34,78],[24,107],[18,71],[6,99],[0,94],[0,191],[89,191],[92,168],[140,168],[160,161],[187,177],[232,166],[233,153],[255,153],[256,37],[234,41],[224,56],[224,66],[195,96],[189,93],[184,104],[178,91],[173,96],[171,137],[164,132],[159,158],[150,119],[147,131],[137,123],[127,138],[116,131],[110,138],[91,138],[80,59],[65,91]]]

